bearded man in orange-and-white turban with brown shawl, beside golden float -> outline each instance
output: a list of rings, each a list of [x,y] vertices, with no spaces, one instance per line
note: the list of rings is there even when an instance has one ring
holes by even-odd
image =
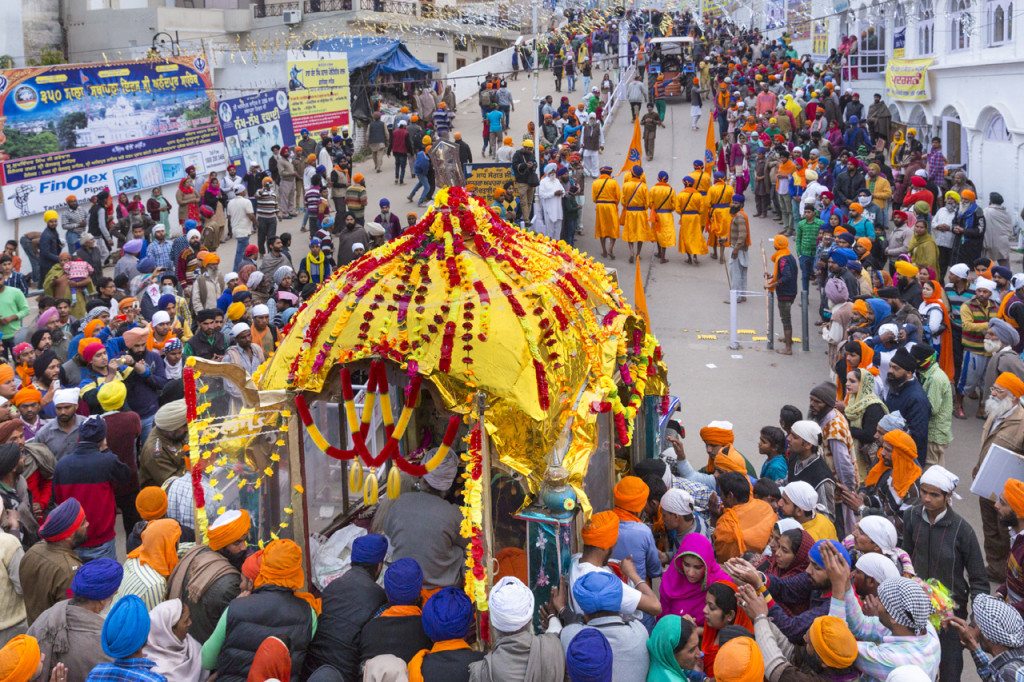
[[[171,571],[167,598],[181,599],[188,606],[193,621],[188,634],[201,642],[212,636],[227,604],[241,592],[250,525],[249,512],[224,512],[210,524],[209,545],[185,552]]]

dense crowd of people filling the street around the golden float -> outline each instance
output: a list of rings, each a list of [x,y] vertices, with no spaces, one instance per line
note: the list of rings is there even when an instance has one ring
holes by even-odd
[[[986,682],[1024,676],[1024,481],[981,499],[979,542],[943,466],[965,400],[985,419],[978,467],[990,445],[1024,452],[1024,274],[1008,267],[1001,198],[982,209],[968,176],[946,173],[938,138],[926,151],[881,99],[865,110],[838,55],[814,63],[688,14],[570,18],[481,84],[481,155],[512,177],[494,208],[572,244],[590,182],[603,257],[618,239],[631,262],[646,242],[694,265],[729,250],[743,292],[753,187],[755,215],[780,224],[766,286],[781,352],[812,285],[829,348],[806,414],[786,404],[761,429],[760,469],[730,422],[700,429],[699,462],[670,424],[671,446],[583,525],[551,599],[537,603],[524,562],[502,563],[485,617],[462,589],[455,455],[382,503],[350,567],[315,592],[300,544],[257,543],[248,511],[211,510],[197,528],[184,358],[252,373],[334,270],[417,220],[387,200],[371,220],[347,131],[302,131],[267,169],[202,180],[187,169],[176,221],[159,191],[144,205],[69,197],[20,243],[31,272],[18,244],[0,255],[0,680],[952,682],[965,651]],[[622,97],[648,160],[670,83],[644,36],[696,39],[694,73],[677,85],[691,127],[707,104],[718,134],[681,191],[668,173],[648,185],[635,164],[620,183],[601,165],[620,22],[639,74]],[[515,146],[505,78],[520,63],[551,69],[559,93],[564,77],[582,101],[543,99]],[[435,140],[458,147],[464,171],[472,163],[455,104],[424,89],[368,128],[374,170],[392,156],[401,185],[408,166],[420,205],[447,177]],[[297,216],[302,258],[278,233]],[[30,287],[43,290],[36,311]]]

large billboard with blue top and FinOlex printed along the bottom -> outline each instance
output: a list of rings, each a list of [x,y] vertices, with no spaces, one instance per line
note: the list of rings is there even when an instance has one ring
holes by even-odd
[[[110,187],[130,194],[223,169],[203,56],[0,72],[0,183],[9,219]]]

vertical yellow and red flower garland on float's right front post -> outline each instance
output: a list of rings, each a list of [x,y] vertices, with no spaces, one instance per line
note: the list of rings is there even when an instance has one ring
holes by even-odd
[[[463,484],[462,526],[460,532],[469,540],[466,548],[465,590],[481,613],[487,610],[487,566],[483,560],[483,473],[482,436],[477,422],[466,435],[466,468]]]

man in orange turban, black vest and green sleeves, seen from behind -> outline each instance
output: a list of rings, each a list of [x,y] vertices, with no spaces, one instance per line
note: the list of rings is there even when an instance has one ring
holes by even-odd
[[[224,610],[216,630],[203,644],[204,668],[210,667],[207,662],[215,660],[218,677],[246,679],[259,642],[288,635],[292,670],[302,670],[321,613],[321,600],[302,590],[305,582],[302,549],[291,540],[267,544],[253,593]],[[246,650],[239,646],[243,642],[255,644]],[[309,673],[306,671],[303,679]]]

